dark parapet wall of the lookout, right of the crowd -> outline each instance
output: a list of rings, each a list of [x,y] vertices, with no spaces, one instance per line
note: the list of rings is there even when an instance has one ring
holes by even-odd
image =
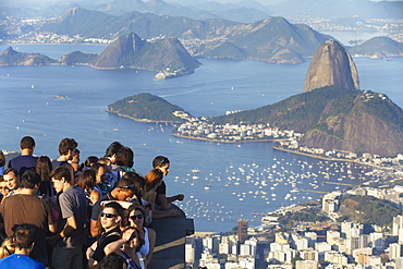
[[[181,210],[172,205],[173,208]],[[182,210],[181,210],[182,211]],[[151,262],[148,269],[181,269],[186,268],[186,236],[194,234],[193,219],[187,219],[184,212],[179,217],[152,220],[157,233]]]

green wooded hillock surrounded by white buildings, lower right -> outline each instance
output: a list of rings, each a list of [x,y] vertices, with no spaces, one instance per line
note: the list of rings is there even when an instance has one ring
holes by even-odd
[[[386,200],[371,196],[349,195],[341,201],[340,212],[344,220],[390,225],[401,210]]]

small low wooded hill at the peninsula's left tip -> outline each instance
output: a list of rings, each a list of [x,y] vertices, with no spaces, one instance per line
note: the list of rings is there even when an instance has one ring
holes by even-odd
[[[151,94],[126,97],[108,106],[108,112],[136,121],[183,122],[182,118],[173,114],[175,111],[184,110]]]

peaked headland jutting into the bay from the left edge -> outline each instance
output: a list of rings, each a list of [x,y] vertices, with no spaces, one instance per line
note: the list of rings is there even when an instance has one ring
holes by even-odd
[[[22,53],[7,48],[0,54],[0,65],[85,64],[95,69],[145,69],[160,72],[158,78],[191,74],[200,63],[190,56],[178,38],[151,41],[134,33],[119,37],[101,53],[74,51],[59,60],[39,53]]]

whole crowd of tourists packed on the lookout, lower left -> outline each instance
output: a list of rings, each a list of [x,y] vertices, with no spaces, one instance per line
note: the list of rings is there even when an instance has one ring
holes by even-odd
[[[157,156],[143,176],[133,150],[113,142],[103,157],[80,163],[78,144],[64,138],[60,157],[34,156],[35,140],[21,139],[21,156],[5,163],[0,150],[0,268],[135,268],[151,262],[152,219],[176,217],[182,194],[167,196],[170,169]]]

